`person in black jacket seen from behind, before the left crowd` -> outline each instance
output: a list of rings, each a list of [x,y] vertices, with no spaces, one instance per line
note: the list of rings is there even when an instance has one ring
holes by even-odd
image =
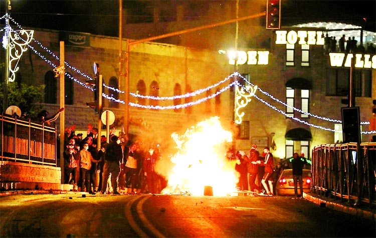
[[[111,142],[107,145],[105,153],[102,189],[100,193],[105,194],[107,190],[107,180],[111,174],[113,194],[121,194],[117,190],[117,179],[120,174],[120,161],[123,159],[123,149],[120,145],[120,139],[116,135],[111,137]]]

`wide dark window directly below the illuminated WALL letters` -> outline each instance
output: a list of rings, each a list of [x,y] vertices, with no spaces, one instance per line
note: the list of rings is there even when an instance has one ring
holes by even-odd
[[[327,71],[326,95],[347,96],[350,69],[329,68]],[[353,74],[355,96],[371,97],[372,70],[355,69]]]

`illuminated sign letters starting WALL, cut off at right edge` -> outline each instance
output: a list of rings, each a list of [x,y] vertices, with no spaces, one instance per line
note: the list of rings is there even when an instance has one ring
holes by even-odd
[[[329,53],[330,66],[333,67],[351,67],[352,53]],[[354,67],[356,68],[376,68],[376,55],[355,54]]]

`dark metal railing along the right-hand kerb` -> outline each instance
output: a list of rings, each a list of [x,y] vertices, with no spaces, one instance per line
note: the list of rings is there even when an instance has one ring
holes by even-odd
[[[321,144],[312,149],[312,190],[358,204],[375,199],[376,142]]]

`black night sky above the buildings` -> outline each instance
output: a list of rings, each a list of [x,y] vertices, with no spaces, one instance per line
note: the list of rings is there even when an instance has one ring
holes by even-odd
[[[123,6],[137,4],[123,2]],[[23,27],[118,36],[118,4],[118,0],[11,0],[11,16]],[[0,0],[0,16],[6,6],[7,0]],[[282,25],[330,20],[376,31],[376,0],[282,0],[281,11]]]

